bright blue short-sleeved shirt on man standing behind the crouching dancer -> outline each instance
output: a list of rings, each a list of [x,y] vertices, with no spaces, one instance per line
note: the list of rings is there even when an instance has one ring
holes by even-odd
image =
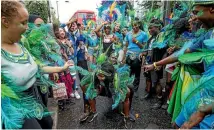
[[[128,32],[126,35],[126,41],[129,43],[128,45],[128,51],[132,51],[132,52],[137,52],[140,53],[141,49],[140,47],[132,42],[132,38],[133,38],[133,33],[132,31]],[[142,44],[142,43],[146,43],[148,41],[148,35],[143,32],[140,31],[136,36],[135,36],[136,40]]]

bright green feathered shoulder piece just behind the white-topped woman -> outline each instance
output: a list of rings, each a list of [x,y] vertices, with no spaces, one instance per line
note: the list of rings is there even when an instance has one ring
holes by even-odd
[[[54,64],[62,60],[60,47],[54,37],[49,34],[50,27],[46,24],[36,27],[29,24],[29,30],[23,35],[21,41],[25,48],[33,55],[38,64]]]

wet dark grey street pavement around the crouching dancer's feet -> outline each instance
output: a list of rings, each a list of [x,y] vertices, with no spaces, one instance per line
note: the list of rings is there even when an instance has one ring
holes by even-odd
[[[165,76],[161,80],[162,85],[165,85]],[[148,100],[140,100],[145,93],[145,78],[141,75],[139,87],[139,98],[133,98],[132,107],[135,115],[138,116],[135,122],[129,122],[129,129],[170,129],[171,118],[166,110],[151,109],[152,104],[156,102],[155,98]],[[81,90],[79,90],[81,93]],[[68,110],[59,111],[58,113],[58,129],[120,129],[124,128],[122,123],[123,117],[120,114],[113,114],[109,118],[105,113],[111,109],[111,100],[106,97],[97,97],[96,106],[98,117],[91,123],[79,123],[79,118],[83,114],[83,99],[72,99],[75,104],[67,105]]]

